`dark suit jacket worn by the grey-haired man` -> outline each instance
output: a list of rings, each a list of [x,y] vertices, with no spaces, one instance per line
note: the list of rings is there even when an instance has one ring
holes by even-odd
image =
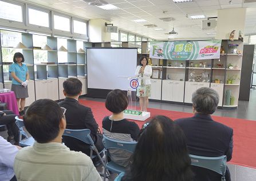
[[[198,156],[227,156],[231,160],[233,152],[233,129],[215,122],[210,115],[195,114],[192,118],[175,120],[184,131],[190,154]],[[206,168],[192,167],[194,180],[219,181],[220,175]],[[226,180],[230,180],[227,168]]]

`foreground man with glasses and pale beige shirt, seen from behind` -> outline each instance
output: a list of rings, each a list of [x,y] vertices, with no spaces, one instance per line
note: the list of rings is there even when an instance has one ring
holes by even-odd
[[[65,108],[50,99],[33,102],[24,124],[36,142],[20,150],[14,161],[17,180],[101,181],[89,156],[62,144],[66,128]]]

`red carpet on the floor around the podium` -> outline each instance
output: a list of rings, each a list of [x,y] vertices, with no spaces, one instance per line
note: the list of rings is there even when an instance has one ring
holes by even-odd
[[[103,118],[111,115],[111,112],[105,108],[104,102],[81,99],[79,101],[81,104],[92,108],[94,118],[100,127],[102,127]],[[192,113],[187,112],[166,111],[155,108],[148,108],[148,111],[151,112],[151,116],[165,115],[172,120],[186,118],[193,115]],[[212,118],[220,123],[232,127],[234,130],[233,158],[231,159],[230,163],[256,168],[256,121],[220,116],[212,116]],[[139,125],[139,127],[145,123],[136,120],[135,122]]]

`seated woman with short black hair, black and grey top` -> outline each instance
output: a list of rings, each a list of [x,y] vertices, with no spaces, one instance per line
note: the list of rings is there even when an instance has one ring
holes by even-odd
[[[120,89],[112,90],[108,93],[105,102],[106,108],[112,115],[103,119],[103,134],[108,138],[133,141],[137,140],[140,132],[139,126],[135,122],[124,119],[124,110],[128,106],[127,95]],[[131,153],[123,150],[109,149],[111,160],[121,166],[128,166]]]

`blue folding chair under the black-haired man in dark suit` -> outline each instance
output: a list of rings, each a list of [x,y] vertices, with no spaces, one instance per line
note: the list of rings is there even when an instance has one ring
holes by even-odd
[[[105,149],[103,149],[101,152],[99,152],[97,150],[96,146],[94,145],[94,142],[93,142],[92,138],[90,137],[90,130],[89,129],[83,129],[83,130],[65,129],[64,134],[62,136],[70,136],[72,138],[76,138],[78,140],[81,140],[82,142],[84,142],[86,144],[89,144],[90,145],[90,159],[96,158],[96,156],[98,156],[98,158],[100,159],[103,166],[105,165],[104,160],[100,156],[100,154],[103,153],[105,151]],[[92,155],[93,151],[95,151],[97,155]],[[103,176],[103,173],[99,172],[99,174],[101,176]],[[108,172],[108,175],[110,175],[109,172]]]

